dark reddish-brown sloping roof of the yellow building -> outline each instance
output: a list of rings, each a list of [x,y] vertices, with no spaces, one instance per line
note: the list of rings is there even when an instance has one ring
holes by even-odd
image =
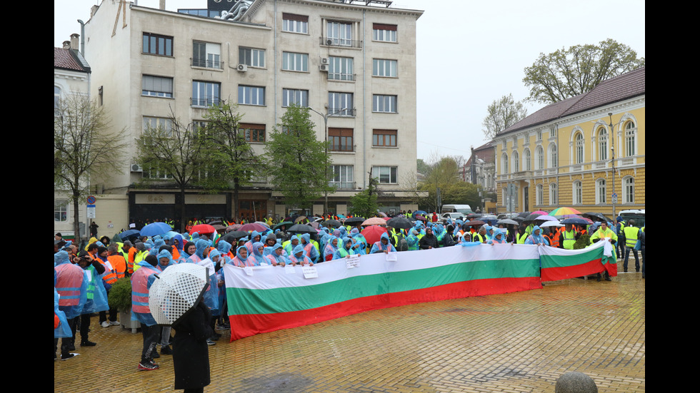
[[[513,126],[501,131],[496,136],[503,136],[523,128],[547,123],[564,116],[571,116],[574,113],[590,111],[593,108],[641,96],[644,93],[646,93],[646,67],[602,81],[587,93],[545,106]]]

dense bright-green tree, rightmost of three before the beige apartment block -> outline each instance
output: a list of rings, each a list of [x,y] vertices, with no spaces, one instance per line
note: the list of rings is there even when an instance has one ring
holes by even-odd
[[[309,109],[289,106],[265,146],[270,183],[284,195],[286,203],[312,208],[313,201],[329,186],[331,159],[326,142],[316,139]]]

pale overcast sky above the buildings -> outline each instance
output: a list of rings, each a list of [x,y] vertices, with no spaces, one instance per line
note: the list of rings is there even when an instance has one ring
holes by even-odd
[[[54,46],[73,33],[99,0],[54,0]],[[139,0],[158,8],[159,0]],[[614,39],[646,57],[644,0],[396,0],[419,9],[417,23],[418,158],[469,158],[486,143],[486,107],[528,95],[524,68],[539,53]],[[206,8],[206,0],[166,0],[166,9]],[[528,113],[541,104],[527,104]]]

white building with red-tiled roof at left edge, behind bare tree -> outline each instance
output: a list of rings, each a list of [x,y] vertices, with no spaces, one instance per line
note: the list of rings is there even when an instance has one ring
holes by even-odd
[[[72,34],[61,48],[54,47],[54,116],[60,116],[59,101],[73,94],[89,97],[91,68],[79,52],[79,35]],[[86,183],[87,185],[87,179]],[[66,239],[74,238],[74,205],[69,191],[54,187],[54,233]],[[79,205],[81,235],[87,228],[86,203]]]

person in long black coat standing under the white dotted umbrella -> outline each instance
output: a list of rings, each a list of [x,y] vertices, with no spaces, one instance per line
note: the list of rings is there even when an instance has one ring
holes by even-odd
[[[173,325],[175,389],[184,389],[185,393],[204,392],[204,387],[211,383],[206,344],[206,339],[214,335],[210,319],[209,308],[200,300],[194,310]]]

